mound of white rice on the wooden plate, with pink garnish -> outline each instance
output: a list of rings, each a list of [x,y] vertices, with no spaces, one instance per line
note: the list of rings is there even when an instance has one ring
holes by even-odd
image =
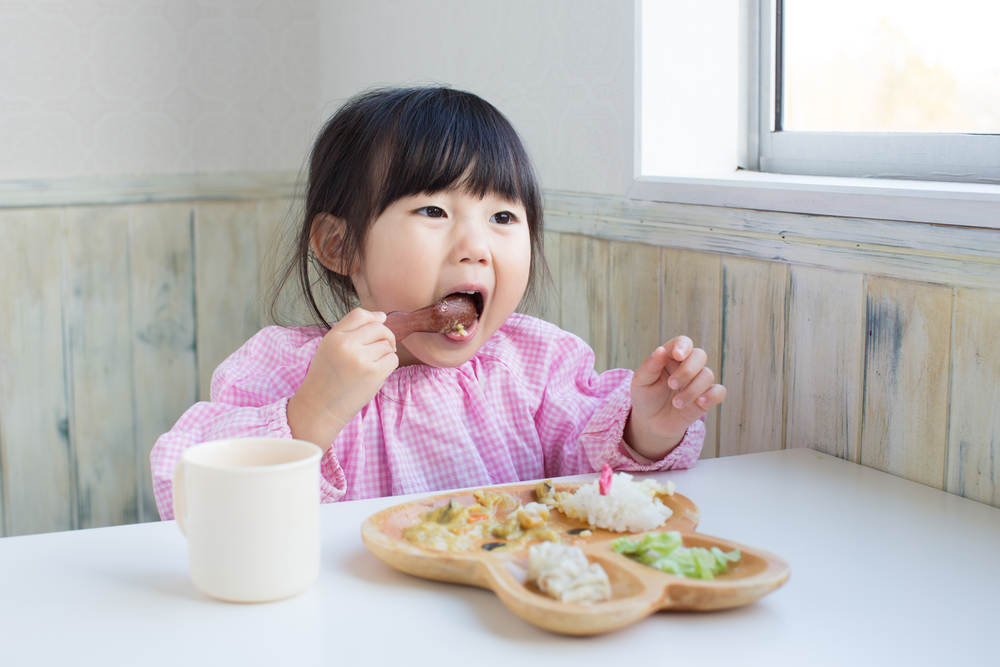
[[[673,483],[667,486],[656,480],[633,482],[632,475],[615,473],[608,495],[602,496],[598,482],[585,484],[576,493],[560,497],[556,507],[568,517],[618,533],[638,533],[659,528],[673,513],[656,497],[672,495]]]

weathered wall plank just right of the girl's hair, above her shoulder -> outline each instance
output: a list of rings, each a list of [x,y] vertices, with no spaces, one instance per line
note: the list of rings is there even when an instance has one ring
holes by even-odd
[[[610,368],[608,242],[577,234],[559,240],[560,326],[594,350],[594,368]]]

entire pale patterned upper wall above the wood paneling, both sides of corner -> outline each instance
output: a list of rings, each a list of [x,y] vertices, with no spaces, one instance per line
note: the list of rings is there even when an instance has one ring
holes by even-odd
[[[442,83],[510,116],[544,187],[632,181],[631,1],[10,2],[0,44],[0,179],[297,171],[347,97]]]

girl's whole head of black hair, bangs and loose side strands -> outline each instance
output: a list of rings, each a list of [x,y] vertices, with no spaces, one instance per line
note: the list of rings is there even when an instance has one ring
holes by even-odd
[[[517,131],[496,107],[448,87],[369,90],[349,99],[327,121],[310,155],[305,212],[281,285],[297,275],[312,315],[329,327],[314,283],[329,288],[340,316],[357,304],[357,293],[350,276],[313,255],[316,217],[327,213],[343,221],[340,256],[350,266],[361,260],[371,225],[393,202],[455,187],[524,206],[531,275],[523,303],[530,303],[538,284],[548,280],[542,197],[531,160]],[[272,312],[278,292],[280,286]]]

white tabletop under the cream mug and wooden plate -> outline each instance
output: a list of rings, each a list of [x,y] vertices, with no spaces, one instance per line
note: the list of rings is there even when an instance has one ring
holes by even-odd
[[[806,449],[656,476],[699,505],[701,532],[785,558],[788,583],[736,610],[553,635],[489,591],[413,578],[369,554],[361,522],[403,500],[383,498],[323,507],[319,581],[269,604],[199,594],[173,522],[0,539],[0,665],[1000,660],[1000,510]]]

